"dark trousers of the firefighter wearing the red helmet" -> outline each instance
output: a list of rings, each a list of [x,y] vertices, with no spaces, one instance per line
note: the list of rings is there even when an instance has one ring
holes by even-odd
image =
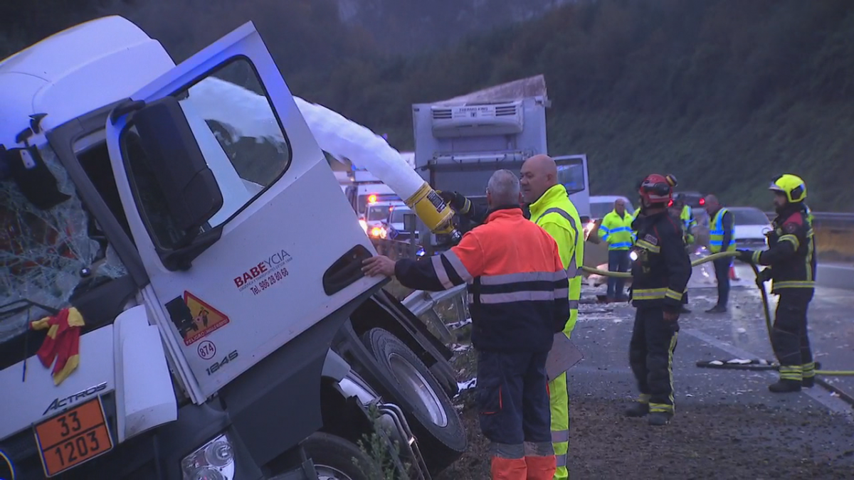
[[[629,364],[640,390],[640,401],[650,412],[674,412],[673,352],[678,321],[664,320],[661,308],[638,308],[629,342]]]

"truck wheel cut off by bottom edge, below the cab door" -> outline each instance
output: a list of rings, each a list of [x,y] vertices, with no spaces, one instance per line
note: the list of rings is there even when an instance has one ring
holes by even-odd
[[[302,442],[302,448],[319,480],[370,480],[369,472],[377,471],[376,462],[340,436],[315,432]]]

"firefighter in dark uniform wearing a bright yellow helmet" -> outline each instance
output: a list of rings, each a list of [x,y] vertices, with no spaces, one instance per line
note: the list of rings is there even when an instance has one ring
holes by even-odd
[[[768,233],[768,249],[738,250],[738,258],[768,266],[761,280],[771,280],[771,292],[780,296],[771,333],[780,380],[769,390],[797,392],[815,382],[806,313],[816,282],[816,239],[810,211],[804,205],[804,180],[786,173],[775,178],[769,190],[774,192],[777,217],[774,230]]]

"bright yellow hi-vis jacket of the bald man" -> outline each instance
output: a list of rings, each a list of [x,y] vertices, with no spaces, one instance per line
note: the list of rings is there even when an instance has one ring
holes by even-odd
[[[530,218],[558,243],[560,260],[570,278],[570,319],[564,332],[572,333],[578,320],[578,299],[582,295],[582,266],[584,265],[584,232],[575,205],[570,202],[564,185],[546,190],[530,204]]]

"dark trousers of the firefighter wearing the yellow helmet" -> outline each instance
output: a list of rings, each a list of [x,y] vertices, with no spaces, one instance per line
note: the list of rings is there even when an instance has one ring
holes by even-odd
[[[782,380],[802,380],[815,376],[806,312],[812,289],[781,289],[771,331],[771,344],[780,362]]]

